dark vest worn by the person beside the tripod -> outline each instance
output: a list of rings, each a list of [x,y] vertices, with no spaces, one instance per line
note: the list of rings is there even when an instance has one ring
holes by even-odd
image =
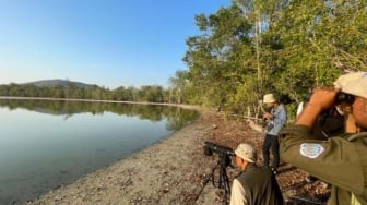
[[[282,205],[283,195],[275,176],[269,167],[260,168],[249,164],[236,179],[242,185],[248,204]]]

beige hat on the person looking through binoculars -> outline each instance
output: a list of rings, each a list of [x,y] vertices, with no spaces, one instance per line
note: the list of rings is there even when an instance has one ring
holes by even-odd
[[[367,72],[352,72],[341,75],[334,86],[341,92],[367,99]]]

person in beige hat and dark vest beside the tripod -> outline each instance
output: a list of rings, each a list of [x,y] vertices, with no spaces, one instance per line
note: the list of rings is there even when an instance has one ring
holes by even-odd
[[[230,205],[282,205],[283,195],[272,170],[257,166],[257,152],[249,144],[239,144],[235,162],[241,172],[234,179]]]

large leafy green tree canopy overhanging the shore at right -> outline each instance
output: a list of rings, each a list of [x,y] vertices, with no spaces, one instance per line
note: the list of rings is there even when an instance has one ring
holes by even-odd
[[[300,101],[346,71],[367,71],[366,1],[234,0],[198,14],[187,38],[192,104],[253,113],[265,93]]]

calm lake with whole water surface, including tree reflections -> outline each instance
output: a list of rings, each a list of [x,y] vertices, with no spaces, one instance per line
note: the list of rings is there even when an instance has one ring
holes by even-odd
[[[197,118],[177,107],[0,99],[0,204],[24,204]]]

